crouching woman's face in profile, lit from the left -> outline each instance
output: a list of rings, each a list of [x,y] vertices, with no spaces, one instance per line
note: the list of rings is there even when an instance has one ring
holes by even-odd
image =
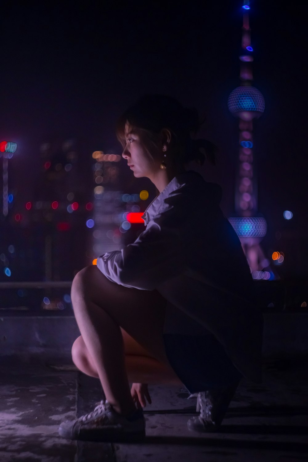
[[[133,170],[134,176],[153,178],[155,173],[159,171],[162,161],[162,158],[158,157],[158,150],[154,146],[151,148],[151,155],[154,160],[151,159],[144,143],[141,141],[140,133],[134,130],[128,122],[125,125],[125,141],[126,145],[124,146],[122,157],[127,160],[127,165]]]

